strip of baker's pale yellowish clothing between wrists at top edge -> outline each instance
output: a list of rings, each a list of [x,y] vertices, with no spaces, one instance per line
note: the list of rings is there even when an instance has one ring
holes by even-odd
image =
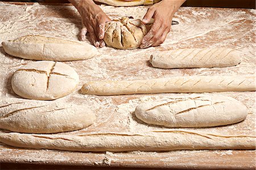
[[[96,2],[106,3],[112,6],[138,6],[138,5],[153,5],[162,0],[94,0]]]

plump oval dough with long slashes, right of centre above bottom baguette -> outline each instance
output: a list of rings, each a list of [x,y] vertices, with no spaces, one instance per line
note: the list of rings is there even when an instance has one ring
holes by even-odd
[[[142,103],[135,109],[138,119],[166,127],[210,127],[243,121],[247,108],[232,97],[205,95]]]

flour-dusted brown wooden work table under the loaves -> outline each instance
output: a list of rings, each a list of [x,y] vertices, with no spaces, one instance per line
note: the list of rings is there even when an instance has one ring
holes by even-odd
[[[111,18],[133,16],[142,18],[147,7],[101,6]],[[97,121],[84,130],[62,134],[88,132],[138,132],[166,130],[147,126],[134,118],[138,103],[183,94],[150,94],[126,96],[82,95],[80,88],[85,81],[135,80],[171,76],[255,76],[255,10],[210,9],[181,7],[174,20],[171,34],[160,47],[134,50],[99,49],[100,55],[84,61],[65,62],[80,75],[77,91],[57,99],[79,105],[87,104],[97,112]],[[28,34],[40,34],[77,40],[81,28],[80,15],[73,6],[14,5],[0,2],[0,42]],[[176,48],[230,47],[243,52],[242,63],[228,68],[157,69],[149,64],[149,54]],[[7,55],[0,46],[0,97],[18,98],[11,89],[11,76],[16,69],[30,63]],[[224,135],[255,135],[255,92],[216,93],[230,96],[247,106],[245,121],[235,125],[192,128],[196,131]],[[189,94],[185,94],[189,95]],[[181,129],[181,128],[179,128]],[[184,128],[183,128],[184,129]],[[188,128],[187,128],[188,129]],[[7,132],[7,131],[1,131]],[[32,150],[0,145],[1,163],[33,163],[106,167],[148,168],[250,168],[255,169],[254,150],[197,150],[170,152],[68,152]]]

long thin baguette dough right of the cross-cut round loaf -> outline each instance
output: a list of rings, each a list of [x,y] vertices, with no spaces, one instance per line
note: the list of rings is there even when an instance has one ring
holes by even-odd
[[[118,95],[146,93],[203,93],[255,91],[254,76],[187,76],[134,81],[91,81],[83,94]]]

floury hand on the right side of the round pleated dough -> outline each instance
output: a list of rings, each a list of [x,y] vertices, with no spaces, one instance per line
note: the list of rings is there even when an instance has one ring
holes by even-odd
[[[185,0],[162,0],[148,8],[142,22],[147,24],[154,18],[154,23],[144,36],[140,48],[158,46],[164,42],[171,30],[172,17],[184,2]]]

